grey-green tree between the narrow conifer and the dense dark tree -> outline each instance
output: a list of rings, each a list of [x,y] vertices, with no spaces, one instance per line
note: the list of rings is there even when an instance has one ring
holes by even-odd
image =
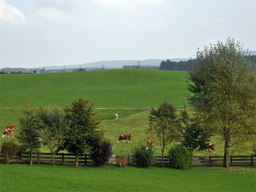
[[[65,119],[63,110],[55,107],[53,109],[42,108],[36,110],[38,119],[37,127],[42,143],[47,146],[52,154],[52,164],[54,166],[55,156],[58,148],[63,147],[66,132],[69,131],[69,125]]]

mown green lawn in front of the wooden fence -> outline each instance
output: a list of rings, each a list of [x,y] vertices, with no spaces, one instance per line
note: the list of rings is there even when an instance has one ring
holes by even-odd
[[[0,164],[0,191],[255,191],[255,166],[188,170]],[[12,181],[8,183],[5,179]]]

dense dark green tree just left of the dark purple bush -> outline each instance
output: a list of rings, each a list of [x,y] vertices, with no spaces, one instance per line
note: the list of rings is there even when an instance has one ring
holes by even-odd
[[[64,108],[66,118],[70,123],[70,131],[65,137],[64,148],[76,156],[75,166],[78,166],[78,157],[89,154],[95,145],[99,145],[99,137],[95,129],[100,123],[96,113],[93,112],[94,103],[89,99],[79,97],[70,106]]]

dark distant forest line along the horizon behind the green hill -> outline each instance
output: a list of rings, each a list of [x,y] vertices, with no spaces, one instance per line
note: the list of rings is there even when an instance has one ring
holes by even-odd
[[[247,56],[246,56],[247,57]],[[256,55],[249,55],[250,60],[256,66]],[[160,66],[151,66],[151,65],[125,65],[123,69],[132,69],[132,68],[140,68],[140,69],[151,69],[151,70],[172,70],[172,71],[188,71],[191,62],[195,61],[162,61]],[[254,67],[256,68],[256,67]],[[10,74],[10,73],[59,73],[59,72],[77,72],[77,71],[97,71],[97,70],[107,70],[114,68],[102,68],[102,67],[84,67],[84,68],[63,68],[63,69],[49,69],[45,70],[45,68],[10,68],[5,67],[0,69],[0,74]]]

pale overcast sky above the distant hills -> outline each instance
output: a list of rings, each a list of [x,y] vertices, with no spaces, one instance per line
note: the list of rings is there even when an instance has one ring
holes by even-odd
[[[256,50],[256,0],[0,0],[0,68]]]

